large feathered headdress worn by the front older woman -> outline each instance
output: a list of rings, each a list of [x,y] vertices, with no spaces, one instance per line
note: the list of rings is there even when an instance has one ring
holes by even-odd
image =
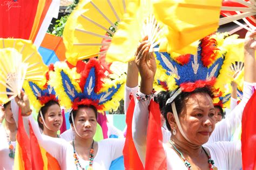
[[[168,53],[156,52],[158,70],[156,77],[165,81],[169,90],[178,86],[182,91],[191,92],[197,87],[214,86],[224,91],[231,77],[231,41],[237,36],[216,33],[200,40],[196,55],[182,55],[172,58]]]

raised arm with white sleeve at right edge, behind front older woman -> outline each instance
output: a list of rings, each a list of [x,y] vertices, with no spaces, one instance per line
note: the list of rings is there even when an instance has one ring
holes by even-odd
[[[208,143],[216,141],[230,141],[232,134],[238,128],[241,123],[242,112],[244,111],[247,101],[251,98],[253,93],[253,83],[255,82],[254,74],[254,60],[255,60],[255,47],[256,40],[253,36],[256,32],[247,32],[244,45],[244,57],[245,57],[245,76],[244,76],[244,90],[243,98],[237,107],[227,116],[226,119],[221,120],[215,126]]]

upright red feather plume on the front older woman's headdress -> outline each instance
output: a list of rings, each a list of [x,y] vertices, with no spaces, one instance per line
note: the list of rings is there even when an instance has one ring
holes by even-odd
[[[219,52],[217,40],[210,38],[210,36],[201,39],[201,61],[205,67],[210,66],[214,62]]]

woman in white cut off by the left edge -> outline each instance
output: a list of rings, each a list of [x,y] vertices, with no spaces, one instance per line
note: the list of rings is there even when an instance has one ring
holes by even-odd
[[[11,102],[3,105],[5,123],[0,127],[0,169],[13,169],[17,126],[11,111]]]

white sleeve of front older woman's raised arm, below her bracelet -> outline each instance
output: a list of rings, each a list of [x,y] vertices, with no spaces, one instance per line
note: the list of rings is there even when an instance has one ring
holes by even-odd
[[[138,92],[138,94],[139,96],[145,97],[145,94],[141,92]],[[146,158],[147,125],[149,121],[149,110],[147,107],[149,104],[150,100],[136,100],[132,118],[132,138],[139,158],[142,160],[144,166]]]

